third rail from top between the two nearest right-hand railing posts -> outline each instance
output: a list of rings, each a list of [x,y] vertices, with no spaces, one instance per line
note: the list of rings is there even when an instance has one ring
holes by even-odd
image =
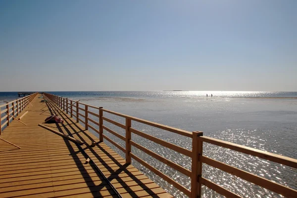
[[[188,170],[188,169],[186,169],[186,168],[184,168],[183,166],[178,165],[178,164],[174,163],[173,161],[170,161],[169,159],[164,158],[164,157],[162,157],[162,156],[160,156],[160,155],[158,155],[158,154],[156,154],[156,153],[148,150],[147,148],[145,148],[145,147],[137,144],[136,142],[134,142],[132,140],[130,140],[130,143],[131,143],[132,146],[134,146],[134,147],[138,148],[139,150],[145,152],[149,156],[151,156],[153,158],[156,158],[159,161],[161,161],[161,162],[165,163],[166,165],[170,166],[171,168],[173,168],[173,169],[175,169],[175,170],[183,173],[184,175],[186,175],[188,177],[191,177],[191,171]]]

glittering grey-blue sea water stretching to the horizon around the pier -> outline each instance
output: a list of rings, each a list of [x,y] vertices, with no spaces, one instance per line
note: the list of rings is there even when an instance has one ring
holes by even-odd
[[[147,119],[188,131],[202,131],[204,136],[225,140],[274,154],[297,158],[297,92],[226,92],[226,91],[158,91],[158,92],[51,92],[82,103],[102,106],[105,109]],[[208,94],[208,97],[206,97]],[[213,94],[213,97],[210,97]],[[0,100],[8,100],[0,94]],[[13,98],[15,99],[15,97]],[[98,113],[98,110],[92,110]],[[125,123],[120,117],[104,116]],[[98,120],[91,116],[92,119]],[[125,131],[105,123],[121,135]],[[98,126],[96,126],[98,127]],[[132,127],[149,135],[192,149],[190,138],[132,121]],[[95,132],[94,132],[95,133]],[[125,143],[104,132],[119,145]],[[191,158],[164,148],[138,135],[132,140],[149,150],[191,170]],[[123,157],[125,154],[104,141]],[[162,162],[132,147],[132,153],[147,161],[186,188],[191,188],[191,179]],[[208,143],[203,145],[203,155],[251,172],[260,177],[297,189],[297,169],[270,162],[261,158],[224,149]],[[133,165],[150,179],[178,198],[183,193],[133,160]],[[203,177],[242,196],[251,198],[282,197],[260,188],[244,179],[230,175],[203,164]],[[202,187],[204,198],[222,197]]]

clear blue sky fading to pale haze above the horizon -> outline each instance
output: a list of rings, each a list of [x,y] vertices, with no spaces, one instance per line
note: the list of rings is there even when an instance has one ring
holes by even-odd
[[[0,91],[297,91],[297,0],[0,0]]]

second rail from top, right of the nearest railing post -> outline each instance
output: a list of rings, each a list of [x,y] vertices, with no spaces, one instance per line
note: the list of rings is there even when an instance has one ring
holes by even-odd
[[[211,158],[207,158],[205,156],[201,157],[201,160],[203,163],[206,163],[210,166],[213,166],[215,168],[221,169],[227,173],[230,173],[232,175],[235,175],[237,177],[240,177],[244,180],[247,180],[253,184],[256,184],[258,186],[261,186],[265,189],[268,189],[270,191],[273,191],[277,194],[283,195],[286,198],[296,198],[297,195],[297,191],[294,189],[291,189],[289,187],[283,186],[281,184],[272,182],[268,179],[259,177],[257,175],[251,174],[247,171],[241,170],[239,168],[235,168],[233,166],[227,165],[225,163],[222,163],[220,161],[211,159]]]

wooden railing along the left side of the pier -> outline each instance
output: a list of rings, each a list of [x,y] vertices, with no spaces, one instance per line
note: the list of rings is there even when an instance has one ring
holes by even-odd
[[[29,105],[29,103],[33,100],[33,98],[37,94],[38,93],[33,93],[26,97],[22,97],[22,98],[7,102],[6,104],[0,105],[0,135],[2,133],[2,128],[4,126],[9,126],[9,122],[13,119],[10,116],[17,117],[23,111],[23,109],[27,107],[27,105]],[[5,109],[3,109],[3,107],[5,107]],[[8,116],[7,114],[10,116]],[[3,120],[6,120],[6,121],[2,123]]]

